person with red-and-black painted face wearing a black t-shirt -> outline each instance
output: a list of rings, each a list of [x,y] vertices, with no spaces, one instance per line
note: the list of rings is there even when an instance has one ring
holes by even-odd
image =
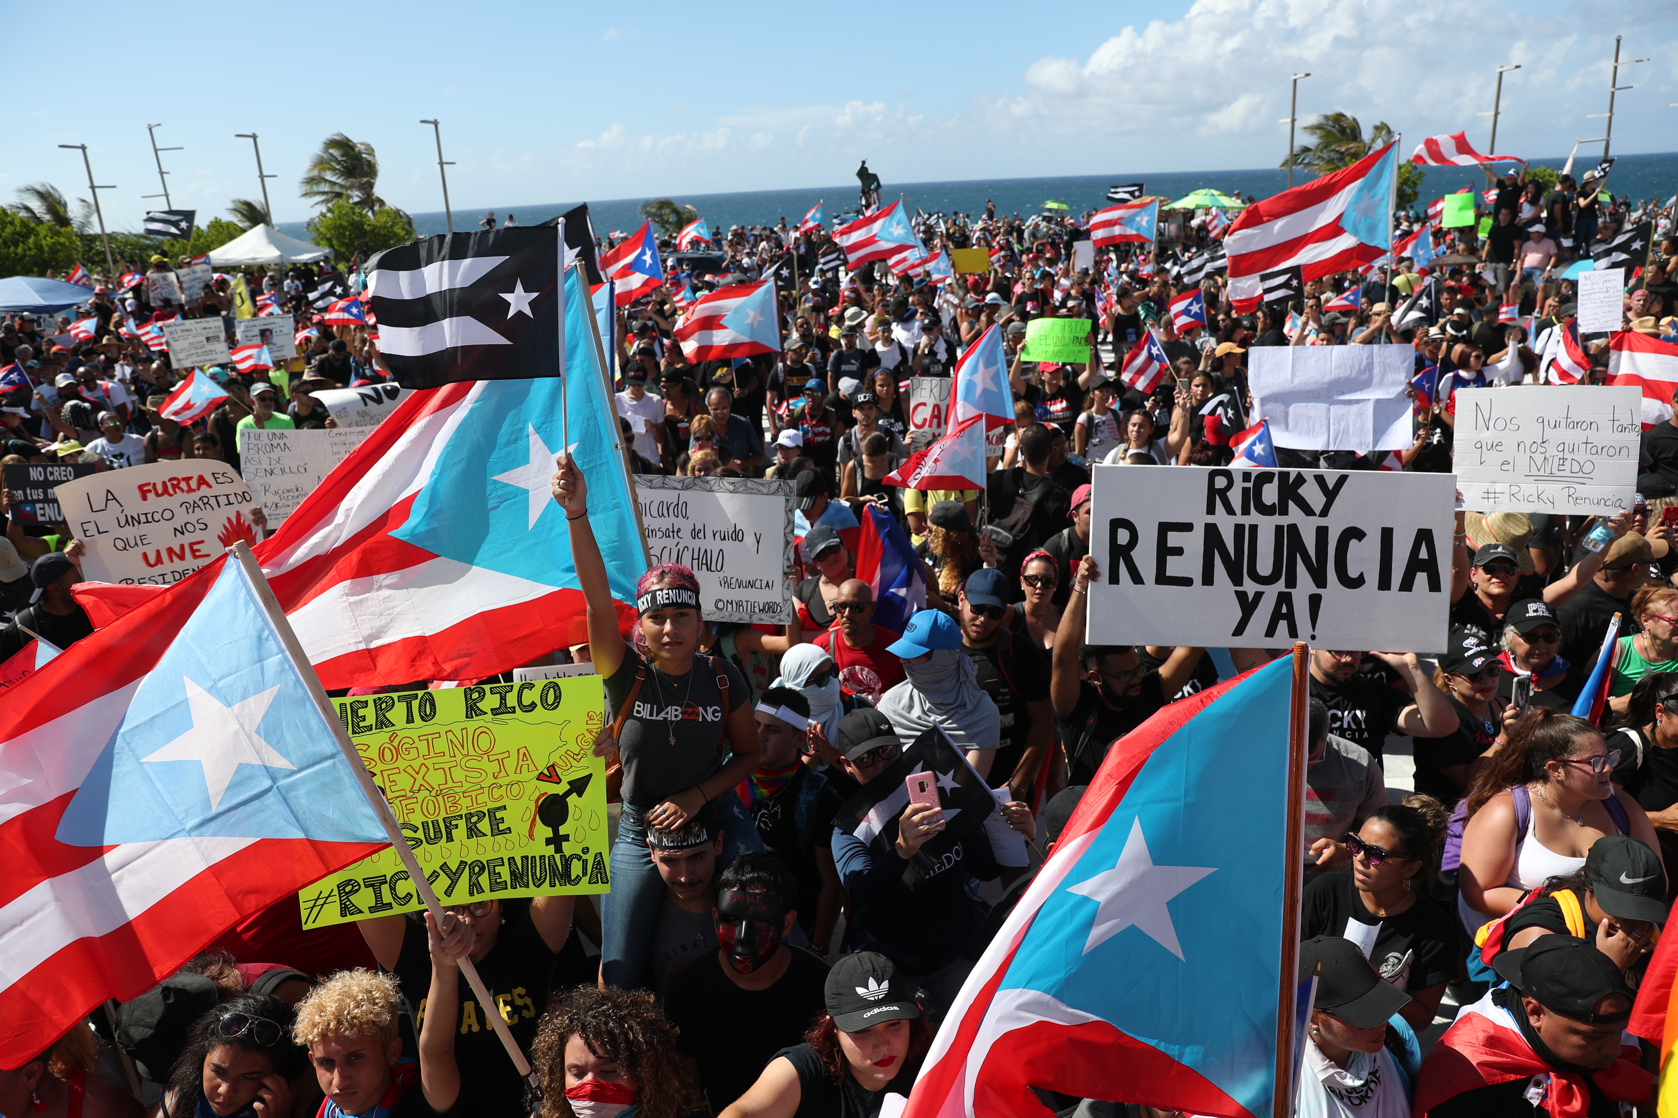
[[[827,965],[782,937],[799,880],[775,855],[740,855],[717,878],[717,954],[678,974],[664,996],[683,1054],[711,1113],[747,1093],[775,1053],[822,1012]],[[718,1029],[717,1022],[728,1022]]]

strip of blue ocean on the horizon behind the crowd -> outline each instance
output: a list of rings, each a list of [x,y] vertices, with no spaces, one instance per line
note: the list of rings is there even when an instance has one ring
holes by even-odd
[[[1534,164],[1561,168],[1564,158],[1534,159]],[[1594,156],[1584,153],[1574,161],[1574,178],[1596,166]],[[1240,191],[1243,198],[1269,198],[1287,189],[1287,171],[1171,171],[1149,174],[1146,171],[1114,171],[1101,176],[1067,176],[1067,178],[1030,178],[1030,179],[972,179],[965,183],[894,183],[888,178],[889,168],[874,168],[884,181],[883,194],[893,199],[903,194],[909,210],[970,213],[982,215],[985,199],[997,203],[998,213],[1019,213],[1029,216],[1039,213],[1045,201],[1064,201],[1072,213],[1094,210],[1107,204],[1107,188],[1116,183],[1143,183],[1149,194],[1181,198],[1193,189],[1210,186],[1225,193]],[[1421,184],[1420,206],[1440,194],[1473,184],[1485,183],[1485,176],[1475,168],[1423,168],[1426,179]],[[1294,184],[1307,179],[1305,174],[1294,174]],[[1609,191],[1619,198],[1671,198],[1678,191],[1678,153],[1653,156],[1619,156],[1614,173],[1609,176]],[[854,179],[839,186],[810,186],[807,189],[774,189],[774,191],[737,191],[730,194],[668,194],[680,203],[700,211],[710,223],[711,231],[725,231],[732,225],[774,225],[785,218],[789,225],[797,225],[799,218],[822,203],[822,213],[829,220],[839,213],[856,210],[857,184]],[[497,223],[507,220],[508,213],[517,215],[520,225],[535,225],[560,215],[582,199],[557,201],[547,204],[495,206]],[[589,215],[594,218],[594,231],[606,236],[612,230],[633,231],[643,218],[638,210],[646,198],[612,198],[587,199]],[[475,230],[485,210],[455,210],[456,230]],[[441,210],[433,213],[416,213],[414,230],[421,235],[446,233],[448,226]],[[302,221],[289,221],[280,230],[292,236],[305,236]]]

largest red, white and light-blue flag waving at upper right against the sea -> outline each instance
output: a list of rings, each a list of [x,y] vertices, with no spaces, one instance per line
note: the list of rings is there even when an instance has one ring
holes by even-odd
[[[1247,206],[1223,238],[1237,310],[1258,307],[1265,273],[1299,268],[1304,280],[1321,280],[1388,251],[1396,176],[1396,144],[1388,144],[1344,171]]]

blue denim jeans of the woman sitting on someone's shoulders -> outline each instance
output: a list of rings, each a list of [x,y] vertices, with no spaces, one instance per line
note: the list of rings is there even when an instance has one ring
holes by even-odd
[[[757,825],[730,788],[711,801],[723,828],[723,853],[717,872],[743,853],[763,848]],[[646,815],[623,806],[618,843],[612,846],[612,892],[601,898],[601,974],[606,986],[634,989],[646,984],[646,955],[653,949],[658,914],[664,907],[664,882],[646,848]]]

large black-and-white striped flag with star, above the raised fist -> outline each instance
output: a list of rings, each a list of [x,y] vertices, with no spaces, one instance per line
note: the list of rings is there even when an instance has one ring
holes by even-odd
[[[366,295],[396,382],[564,375],[564,226],[448,233],[376,255]]]

